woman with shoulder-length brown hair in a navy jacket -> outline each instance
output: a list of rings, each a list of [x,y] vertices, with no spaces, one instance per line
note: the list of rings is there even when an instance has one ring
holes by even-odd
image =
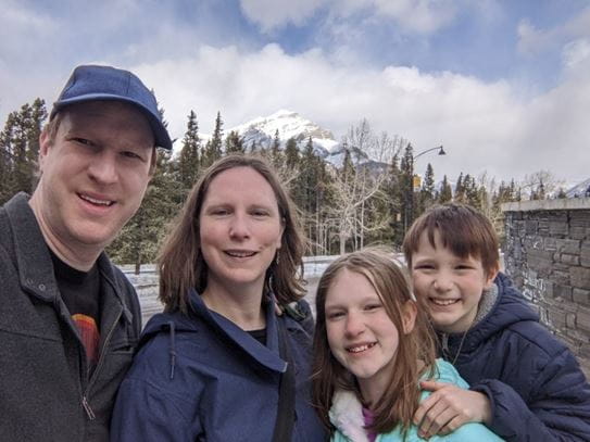
[[[163,248],[165,313],[143,331],[112,440],[323,440],[311,333],[275,314],[304,293],[302,254],[292,203],[266,163],[231,155],[208,168]]]

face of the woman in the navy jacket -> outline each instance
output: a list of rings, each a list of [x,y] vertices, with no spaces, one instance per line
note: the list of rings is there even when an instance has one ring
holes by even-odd
[[[266,179],[247,166],[222,172],[209,186],[199,220],[208,288],[222,285],[262,292],[284,230]]]

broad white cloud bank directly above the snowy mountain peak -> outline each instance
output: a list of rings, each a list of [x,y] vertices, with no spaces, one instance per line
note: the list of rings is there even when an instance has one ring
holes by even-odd
[[[444,144],[448,155],[430,161],[437,175],[484,171],[500,179],[541,168],[558,177],[587,176],[590,81],[579,76],[531,101],[517,99],[505,81],[415,67],[351,68],[311,50],[286,54],[277,45],[241,52],[203,47],[180,62],[143,64],[135,71],[155,87],[174,137],[185,131],[193,109],[203,131],[216,112],[225,127],[291,109],[342,136],[366,117],[376,131],[410,140],[416,151]]]

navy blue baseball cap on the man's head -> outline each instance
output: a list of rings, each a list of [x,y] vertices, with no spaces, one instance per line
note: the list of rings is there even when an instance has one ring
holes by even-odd
[[[114,100],[135,104],[148,118],[155,146],[172,150],[172,140],[162,122],[153,93],[128,71],[112,66],[78,66],[72,73],[49,119],[63,108],[86,101]]]

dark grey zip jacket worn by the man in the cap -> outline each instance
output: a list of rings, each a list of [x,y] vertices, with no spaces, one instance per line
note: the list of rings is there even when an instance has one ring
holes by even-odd
[[[18,193],[0,209],[0,441],[109,440],[141,315],[121,270],[104,254],[98,266],[100,356],[89,376],[28,197]]]

